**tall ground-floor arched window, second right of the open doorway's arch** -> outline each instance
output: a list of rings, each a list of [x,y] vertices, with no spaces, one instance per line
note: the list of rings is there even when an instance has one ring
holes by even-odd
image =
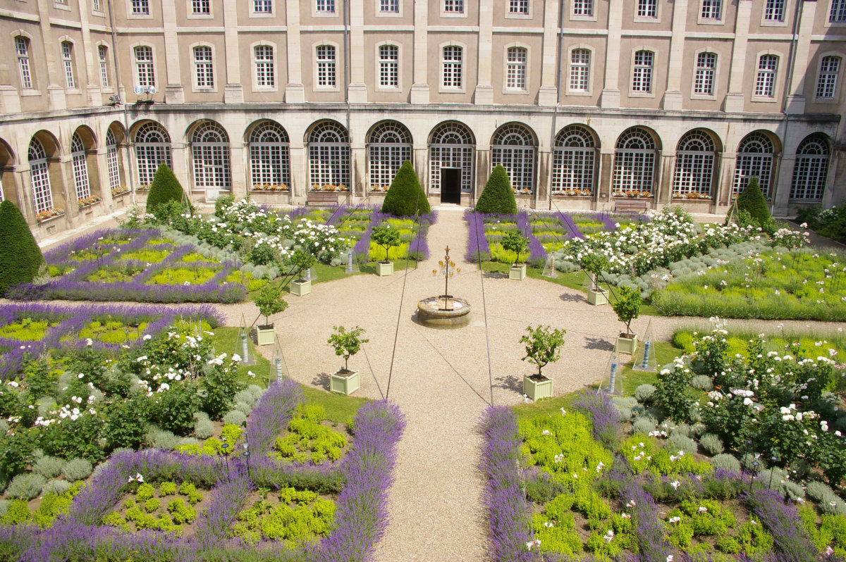
[[[552,193],[579,189],[580,195],[593,194],[596,140],[582,125],[569,125],[555,137],[552,153]]]

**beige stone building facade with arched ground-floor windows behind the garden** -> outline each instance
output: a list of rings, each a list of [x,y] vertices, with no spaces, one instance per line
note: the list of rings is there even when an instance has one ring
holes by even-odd
[[[41,235],[143,199],[777,215],[846,199],[846,0],[0,0],[3,198]],[[140,191],[139,191],[140,190]]]

